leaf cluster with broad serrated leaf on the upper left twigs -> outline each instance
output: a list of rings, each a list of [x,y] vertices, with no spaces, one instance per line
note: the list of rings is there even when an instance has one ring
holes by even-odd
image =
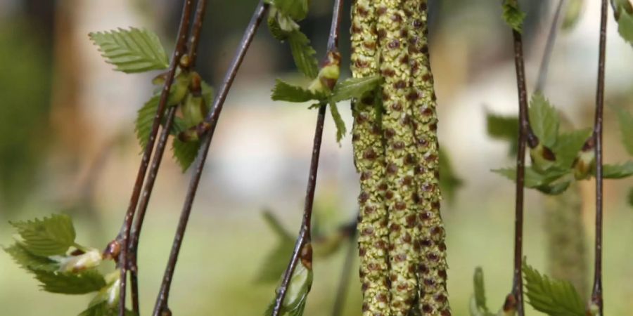
[[[116,71],[127,74],[166,70],[169,67],[167,53],[158,36],[147,29],[115,29],[108,32],[93,32],[90,39],[98,46],[106,62],[115,65]],[[157,85],[153,96],[141,107],[136,118],[136,136],[141,147],[145,147],[151,133],[156,110],[160,102],[165,75],[153,80]],[[174,84],[167,98],[167,107],[179,106],[179,115],[174,117],[170,129],[174,158],[186,171],[198,154],[200,142],[197,138],[185,137],[190,129],[203,121],[212,102],[212,88],[200,76],[188,70],[188,56],[179,62]],[[165,119],[162,121],[165,126]]]

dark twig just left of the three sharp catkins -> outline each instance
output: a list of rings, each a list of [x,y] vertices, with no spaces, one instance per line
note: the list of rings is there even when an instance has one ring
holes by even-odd
[[[330,34],[328,37],[328,53],[338,53],[338,34],[340,29],[340,11],[343,8],[343,0],[335,0],[334,8],[332,12],[332,23],[330,27]],[[300,253],[305,244],[310,242],[312,238],[310,233],[310,226],[312,223],[312,204],[314,202],[314,190],[316,188],[316,171],[319,168],[319,153],[321,151],[321,136],[323,133],[323,124],[326,111],[326,104],[322,104],[319,107],[319,115],[316,119],[316,131],[314,131],[314,143],[312,146],[312,159],[310,162],[310,171],[307,185],[307,192],[305,197],[305,207],[303,209],[303,220],[299,231],[299,236],[295,242],[295,248],[293,254],[290,256],[290,262],[286,271],[283,272],[281,284],[277,290],[275,298],[275,304],[273,307],[271,316],[279,316],[281,313],[281,307],[283,305],[283,299],[286,298],[286,292],[288,291],[288,284],[292,278],[293,272],[299,261]]]

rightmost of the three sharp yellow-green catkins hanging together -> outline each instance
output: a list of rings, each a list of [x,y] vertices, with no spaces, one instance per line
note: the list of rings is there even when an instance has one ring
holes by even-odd
[[[440,163],[433,74],[428,55],[428,8],[426,0],[406,0],[411,123],[416,137],[419,212],[418,308],[422,315],[451,315],[447,294],[445,230],[440,215]]]

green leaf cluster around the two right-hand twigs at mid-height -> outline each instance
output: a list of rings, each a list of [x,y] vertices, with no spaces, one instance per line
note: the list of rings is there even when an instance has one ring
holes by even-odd
[[[618,111],[622,143],[633,156],[633,117],[622,109]],[[564,192],[574,180],[595,175],[595,159],[591,129],[561,132],[561,119],[549,100],[535,93],[530,100],[530,126],[539,143],[530,149],[532,164],[525,168],[525,187],[537,189],[549,195]],[[510,154],[516,154],[518,119],[487,114],[487,130],[492,138],[510,143]],[[493,170],[511,180],[516,179],[516,169]],[[633,175],[633,161],[622,164],[605,164],[604,178],[625,178]]]

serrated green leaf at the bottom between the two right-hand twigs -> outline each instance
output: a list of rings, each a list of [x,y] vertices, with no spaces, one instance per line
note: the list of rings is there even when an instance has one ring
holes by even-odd
[[[535,310],[550,316],[584,316],[584,303],[568,281],[550,279],[523,261],[525,295]]]

